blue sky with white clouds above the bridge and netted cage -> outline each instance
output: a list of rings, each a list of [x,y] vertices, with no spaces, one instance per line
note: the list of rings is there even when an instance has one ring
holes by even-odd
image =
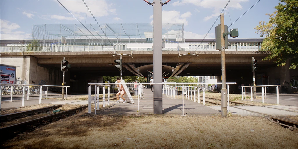
[[[87,13],[83,1],[59,0],[83,24],[96,24]],[[166,0],[163,0],[165,2]],[[143,0],[85,1],[98,23],[150,23],[153,7]],[[149,0],[153,2],[153,0]],[[184,23],[184,38],[204,38],[228,0],[178,1],[171,0],[162,6],[162,23]],[[224,10],[225,25],[230,26],[257,0],[231,0]],[[229,29],[238,28],[238,38],[260,38],[255,33],[260,21],[268,22],[266,13],[273,13],[277,0],[261,0]],[[86,17],[87,15],[87,17]],[[52,0],[1,0],[0,39],[31,39],[32,24],[80,24],[58,1]],[[220,24],[220,20],[215,26]],[[206,38],[215,38],[215,26]],[[230,37],[229,37],[230,38]]]

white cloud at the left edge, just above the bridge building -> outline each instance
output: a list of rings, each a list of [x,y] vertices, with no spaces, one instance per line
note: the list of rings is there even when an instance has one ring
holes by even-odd
[[[0,19],[0,39],[27,39],[30,34],[21,31],[13,31],[20,28],[16,23]]]

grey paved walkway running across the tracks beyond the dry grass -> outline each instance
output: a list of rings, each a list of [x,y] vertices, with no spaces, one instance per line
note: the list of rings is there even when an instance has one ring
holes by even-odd
[[[109,108],[102,108],[97,110],[97,114],[153,114],[153,92],[150,89],[143,89],[143,97],[138,100],[134,100],[135,104],[130,103],[115,103],[115,100],[110,101]],[[187,100],[184,98],[184,106],[182,99],[173,99],[163,95],[163,113],[174,115],[218,115],[221,114],[221,106],[206,106],[202,103],[194,102],[193,100]],[[21,106],[21,100],[2,101],[1,109],[16,108]],[[25,100],[25,106],[37,105],[39,100]],[[88,104],[87,100],[42,100],[41,103],[51,104]],[[101,103],[103,104],[103,103]],[[108,102],[106,101],[106,104]],[[138,107],[139,105],[139,107]],[[138,110],[139,109],[139,110]],[[271,105],[271,106],[232,106],[230,107],[232,114],[239,114],[242,116],[297,116],[298,108],[295,106],[285,105]],[[94,109],[91,109],[91,113],[94,113]]]

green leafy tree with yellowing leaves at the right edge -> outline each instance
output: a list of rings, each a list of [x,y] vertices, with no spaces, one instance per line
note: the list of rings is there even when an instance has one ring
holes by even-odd
[[[273,60],[277,66],[285,66],[290,60],[290,69],[298,67],[298,1],[280,0],[274,7],[276,11],[269,16],[266,23],[254,29],[260,37],[265,37],[261,49],[270,50],[270,54],[263,60]]]

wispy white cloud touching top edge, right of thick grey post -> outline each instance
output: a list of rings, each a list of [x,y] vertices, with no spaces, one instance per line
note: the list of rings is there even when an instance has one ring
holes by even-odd
[[[242,9],[241,2],[246,2],[248,0],[234,0],[230,1],[228,4],[228,7],[231,9]],[[204,18],[204,21],[207,21],[213,17],[217,17],[220,12],[224,9],[226,6],[228,0],[204,0],[204,1],[195,1],[195,0],[183,0],[183,1],[176,1],[172,3],[173,6],[180,6],[180,5],[186,5],[186,4],[191,4],[195,5],[198,8],[209,8],[212,9],[212,15],[208,15]],[[196,9],[198,12],[199,10]]]

